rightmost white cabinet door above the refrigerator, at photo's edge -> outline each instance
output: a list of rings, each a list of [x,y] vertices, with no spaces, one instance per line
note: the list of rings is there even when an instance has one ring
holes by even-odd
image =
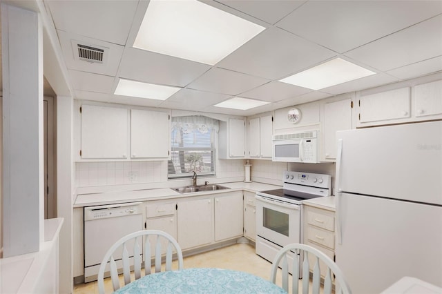
[[[414,87],[416,117],[442,114],[442,80]]]

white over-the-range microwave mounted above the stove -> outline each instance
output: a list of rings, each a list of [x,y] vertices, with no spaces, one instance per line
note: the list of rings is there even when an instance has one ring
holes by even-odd
[[[273,136],[272,160],[284,162],[318,162],[318,131]]]

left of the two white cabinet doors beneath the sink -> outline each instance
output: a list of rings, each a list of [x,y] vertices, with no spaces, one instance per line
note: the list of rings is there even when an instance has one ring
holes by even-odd
[[[211,198],[180,202],[177,217],[177,241],[183,250],[212,242],[213,202]]]

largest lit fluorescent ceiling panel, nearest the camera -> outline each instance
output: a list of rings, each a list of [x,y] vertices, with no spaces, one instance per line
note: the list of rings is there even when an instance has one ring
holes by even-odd
[[[210,64],[265,28],[196,0],[151,0],[133,47]]]

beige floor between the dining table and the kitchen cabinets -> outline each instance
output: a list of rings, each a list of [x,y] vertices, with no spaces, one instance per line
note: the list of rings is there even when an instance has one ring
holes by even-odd
[[[228,268],[244,271],[269,280],[271,263],[255,254],[250,244],[233,244],[206,253],[184,257],[184,268]],[[280,282],[280,278],[277,280]],[[289,281],[291,283],[291,281]],[[277,283],[278,284],[278,283]],[[106,293],[112,292],[111,280],[105,280]],[[97,282],[74,286],[75,294],[98,293]]]

